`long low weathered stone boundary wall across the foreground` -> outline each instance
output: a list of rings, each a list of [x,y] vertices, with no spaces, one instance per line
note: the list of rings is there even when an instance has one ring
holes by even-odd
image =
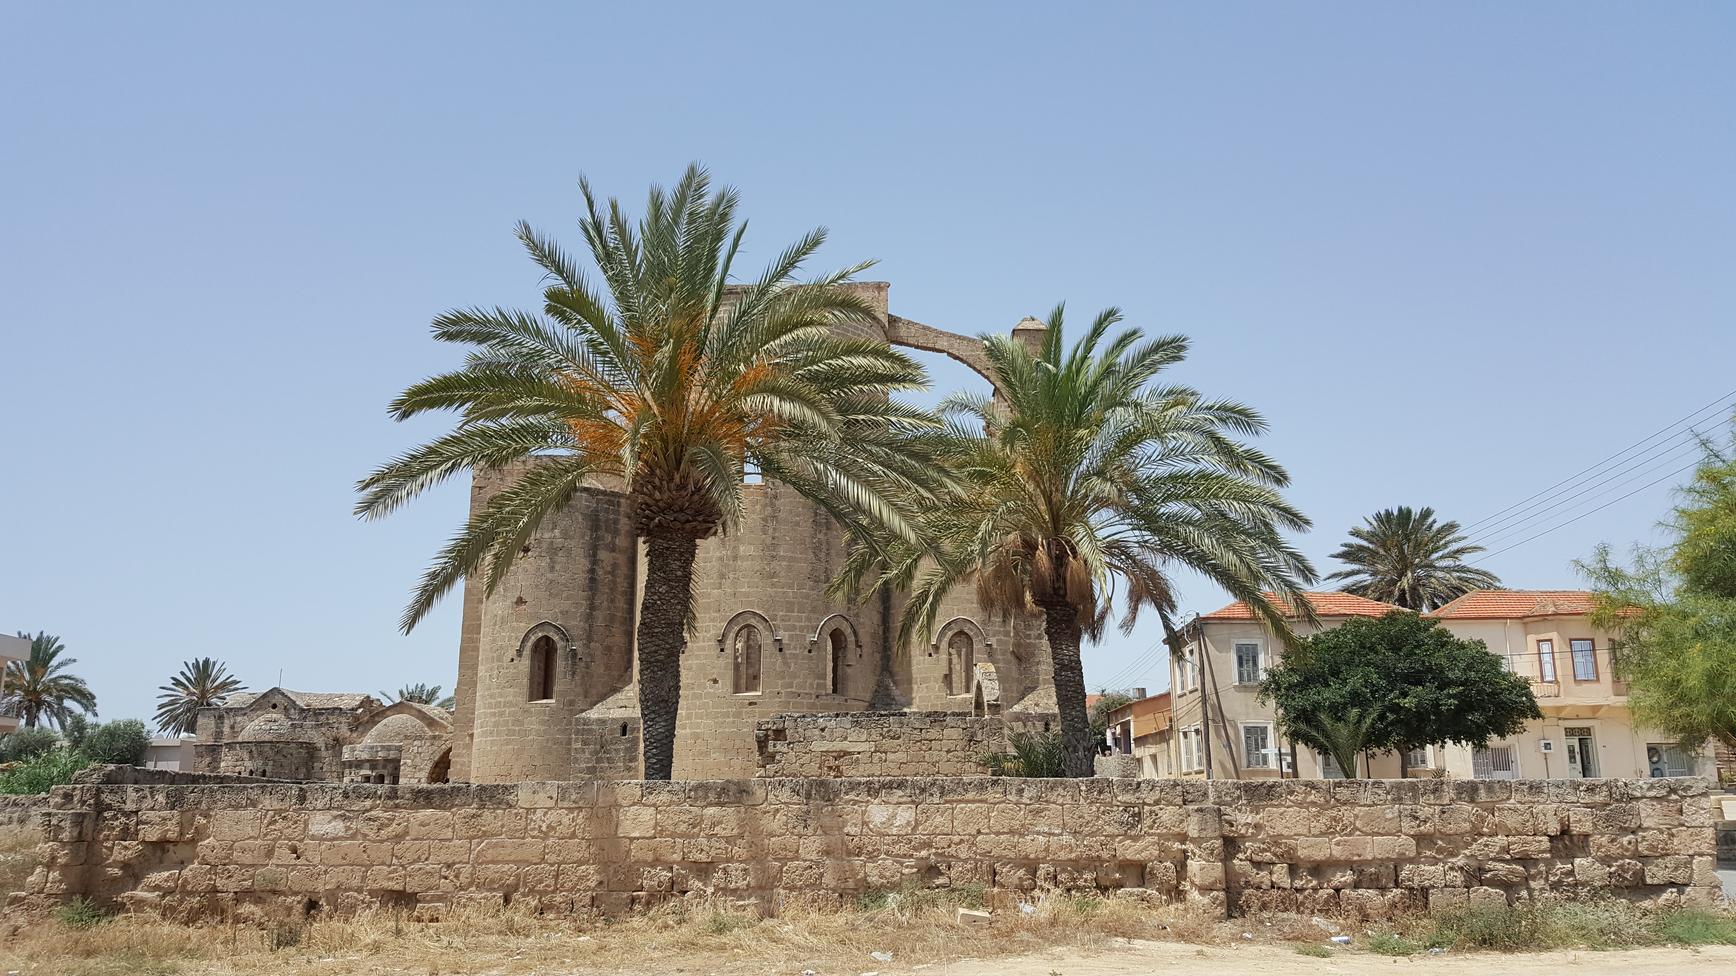
[[[1378,917],[1614,893],[1715,901],[1705,780],[720,780],[75,785],[24,908],[170,917],[1040,887]]]

